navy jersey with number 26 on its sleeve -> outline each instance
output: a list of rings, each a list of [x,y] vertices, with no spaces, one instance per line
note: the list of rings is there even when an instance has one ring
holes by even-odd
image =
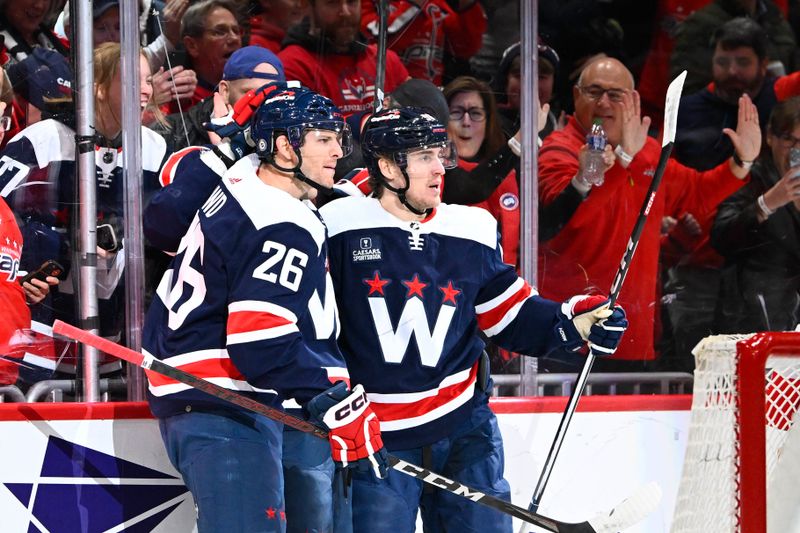
[[[325,226],[243,158],[197,212],[148,311],[143,345],[173,366],[278,406],[346,380]],[[158,417],[229,403],[148,373]]]

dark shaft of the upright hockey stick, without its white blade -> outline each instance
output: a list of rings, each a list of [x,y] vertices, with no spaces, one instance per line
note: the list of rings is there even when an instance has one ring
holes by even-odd
[[[642,232],[644,231],[644,225],[647,222],[647,217],[650,215],[650,209],[653,207],[656,192],[658,191],[659,185],[661,185],[661,180],[664,177],[664,171],[667,168],[667,162],[672,154],[673,144],[674,143],[669,142],[661,149],[661,155],[658,159],[656,172],[653,175],[652,181],[650,182],[650,188],[647,190],[644,203],[639,211],[639,217],[636,219],[636,224],[633,226],[633,231],[628,239],[628,246],[625,249],[625,254],[622,256],[622,261],[619,264],[619,268],[617,268],[617,273],[614,276],[613,283],[611,284],[611,292],[609,294],[610,307],[613,307],[616,303],[617,297],[619,296],[619,291],[622,289],[622,283],[625,281],[625,276],[628,274],[628,268],[630,268],[631,261],[633,260],[633,254],[636,252],[636,247],[639,245],[639,240],[641,239]],[[558,424],[556,436],[553,439],[552,445],[550,446],[550,451],[547,452],[547,459],[542,467],[542,473],[539,476],[539,481],[536,483],[536,488],[533,491],[531,503],[528,505],[528,510],[531,512],[536,512],[539,509],[539,503],[542,501],[544,489],[547,487],[547,482],[550,479],[550,474],[553,472],[553,467],[555,466],[558,453],[561,450],[561,445],[564,443],[564,437],[566,436],[567,430],[569,429],[569,424],[572,421],[572,415],[575,414],[575,410],[578,407],[578,400],[580,400],[580,397],[583,395],[583,391],[586,388],[586,382],[589,379],[589,373],[592,370],[594,358],[594,353],[589,351],[589,355],[586,357],[586,361],[584,362],[583,368],[578,375],[578,379],[575,381],[575,388],[572,390],[572,394],[569,397],[569,402],[567,402],[567,408],[564,410],[564,414],[562,415],[561,421]]]

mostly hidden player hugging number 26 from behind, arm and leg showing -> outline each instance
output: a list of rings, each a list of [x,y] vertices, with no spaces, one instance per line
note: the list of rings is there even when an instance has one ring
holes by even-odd
[[[248,91],[234,102],[224,119],[230,122],[209,126],[222,137],[219,144],[192,146],[170,156],[161,172],[165,186],[153,195],[144,212],[145,236],[152,244],[173,254],[178,250],[195,212],[219,185],[222,175],[255,151],[250,126],[256,110],[269,95],[287,86],[299,87],[296,82],[270,83]],[[284,404],[296,406],[293,399]],[[350,505],[343,484],[335,477],[327,443],[285,428],[282,459],[287,532],[330,531],[333,523],[333,531],[348,533]]]

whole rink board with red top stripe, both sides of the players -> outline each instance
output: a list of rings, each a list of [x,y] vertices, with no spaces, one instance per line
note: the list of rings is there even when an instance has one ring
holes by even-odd
[[[492,402],[518,505],[530,500],[565,402]],[[690,402],[689,396],[581,400],[540,512],[585,520],[657,481],[664,491],[660,508],[630,531],[668,532]],[[0,404],[0,458],[3,531],[194,529],[191,495],[170,465],[145,404]]]

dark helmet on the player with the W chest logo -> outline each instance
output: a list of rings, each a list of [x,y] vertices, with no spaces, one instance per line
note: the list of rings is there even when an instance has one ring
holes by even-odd
[[[447,128],[428,111],[416,107],[388,109],[372,115],[361,135],[364,163],[372,178],[397,194],[409,210],[420,215],[424,211],[409,205],[405,196],[410,185],[406,170],[408,153],[433,147],[442,148],[444,168],[456,166],[456,149],[447,137]],[[406,181],[404,187],[393,187],[387,182],[378,166],[381,157],[390,158],[397,164]]]

